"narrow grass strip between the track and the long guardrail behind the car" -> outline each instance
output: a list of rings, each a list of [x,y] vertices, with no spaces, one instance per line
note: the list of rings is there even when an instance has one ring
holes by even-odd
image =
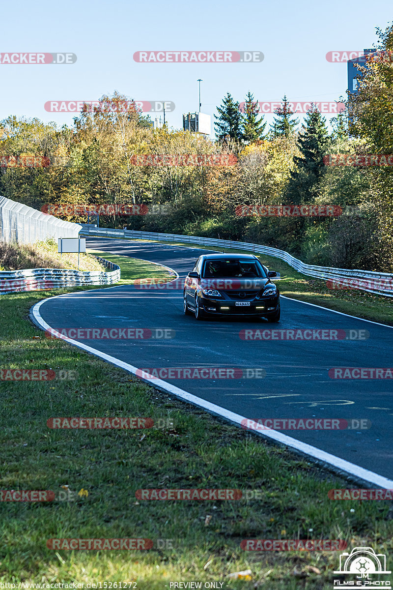
[[[146,240],[151,241],[151,240]],[[156,240],[155,240],[156,241]],[[168,244],[162,240],[157,240],[160,244]],[[189,244],[188,242],[170,242],[171,245],[180,245],[186,247],[196,247],[202,250],[209,250],[209,247]],[[212,248],[214,250],[214,247]],[[235,250],[225,248],[227,253],[250,254],[246,250]],[[315,305],[328,307],[337,312],[348,313],[351,316],[362,317],[373,322],[381,322],[393,326],[393,301],[391,297],[374,295],[361,290],[344,290],[328,289],[326,281],[319,278],[306,277],[298,273],[280,258],[267,256],[265,254],[256,254],[262,264],[265,264],[270,270],[276,270],[281,274],[280,280],[277,281],[280,293],[291,299],[307,301]]]

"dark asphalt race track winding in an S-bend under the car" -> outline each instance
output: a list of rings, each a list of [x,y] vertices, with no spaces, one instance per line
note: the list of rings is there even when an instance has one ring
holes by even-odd
[[[180,277],[207,250],[148,242],[88,238],[88,247],[143,258],[173,268]],[[270,268],[270,270],[275,270]],[[279,281],[277,282],[279,287]],[[278,324],[227,318],[197,322],[183,314],[183,291],[111,287],[44,301],[41,317],[67,328],[170,328],[168,340],[81,340],[137,368],[224,367],[266,371],[265,378],[164,379],[227,411],[250,419],[368,419],[366,430],[285,430],[298,441],[393,479],[392,379],[331,379],[333,367],[392,366],[391,327],[322,307],[281,300]],[[366,340],[242,340],[243,329],[368,330]],[[250,371],[249,374],[252,374]],[[356,423],[355,423],[356,424]],[[391,486],[393,487],[393,486]]]

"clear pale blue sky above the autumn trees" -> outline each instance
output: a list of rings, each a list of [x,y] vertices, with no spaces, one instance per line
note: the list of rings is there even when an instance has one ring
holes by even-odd
[[[362,50],[377,41],[375,27],[392,19],[391,0],[370,2],[129,2],[97,0],[2,5],[1,52],[77,54],[70,65],[0,65],[0,119],[38,117],[72,124],[72,113],[51,114],[48,100],[97,100],[114,90],[136,100],[171,100],[170,126],[183,113],[215,112],[229,91],[244,100],[338,100],[345,96],[345,63],[329,63],[332,50]],[[142,64],[143,50],[262,51],[262,63]],[[273,115],[267,115],[270,123]],[[327,117],[328,119],[330,117]],[[212,124],[213,132],[213,124]]]

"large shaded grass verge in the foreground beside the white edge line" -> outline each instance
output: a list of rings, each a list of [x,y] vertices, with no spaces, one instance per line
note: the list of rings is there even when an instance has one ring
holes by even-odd
[[[142,278],[141,271],[127,278]],[[156,276],[157,267],[150,272]],[[2,369],[62,373],[53,381],[0,381],[0,488],[53,490],[57,497],[68,490],[70,501],[0,503],[0,581],[331,590],[333,576],[339,577],[332,573],[338,552],[240,549],[242,539],[256,537],[344,539],[349,550],[365,545],[387,553],[392,569],[387,503],[328,500],[329,489],[348,487],[344,481],[61,340],[46,339],[28,311],[47,296],[1,297]],[[77,416],[151,417],[162,427],[47,427],[48,418]],[[161,487],[259,490],[260,498],[136,499],[137,489]],[[154,545],[147,551],[48,549],[47,539],[58,537],[142,537]],[[249,577],[227,577],[247,569]]]

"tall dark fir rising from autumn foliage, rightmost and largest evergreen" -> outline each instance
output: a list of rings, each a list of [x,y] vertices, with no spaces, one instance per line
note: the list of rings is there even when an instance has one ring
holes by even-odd
[[[295,204],[310,202],[316,196],[319,180],[325,173],[323,156],[328,153],[330,138],[325,117],[311,103],[298,137],[302,157],[295,156],[286,194]]]

